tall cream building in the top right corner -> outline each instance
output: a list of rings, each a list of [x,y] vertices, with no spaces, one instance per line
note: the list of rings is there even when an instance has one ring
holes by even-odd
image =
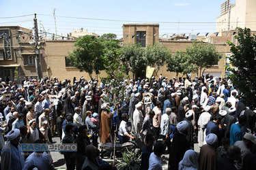
[[[255,0],[236,0],[236,4],[230,4],[227,0],[221,5],[221,16],[216,19],[216,32],[235,30],[236,27],[256,31]]]

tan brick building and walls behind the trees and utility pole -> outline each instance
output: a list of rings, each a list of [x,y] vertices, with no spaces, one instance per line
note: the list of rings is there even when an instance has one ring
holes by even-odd
[[[17,68],[20,76],[33,76],[37,77],[35,71],[35,52],[31,48],[29,41],[32,41],[31,37],[27,34],[18,34],[18,30],[22,29],[26,33],[31,33],[31,30],[21,27],[0,27],[1,30],[7,30],[10,37],[10,50],[11,58],[6,58],[6,48],[4,45],[4,39],[0,39],[0,58],[3,56],[3,60],[0,61],[0,77],[6,81],[6,78],[10,76],[10,80],[14,79],[14,70]],[[186,46],[192,46],[193,41],[175,41],[175,40],[159,40],[159,24],[124,24],[123,25],[123,40],[121,40],[122,46],[129,44],[140,43],[142,46],[147,44],[154,44],[159,42],[166,46],[171,52],[177,50],[186,50]],[[1,34],[0,34],[1,35]],[[2,40],[2,41],[1,41]],[[85,72],[80,72],[79,69],[72,67],[66,58],[69,52],[74,49],[75,40],[44,40],[40,44],[41,53],[41,65],[43,76],[57,77],[59,80],[70,79],[74,77],[79,79],[81,75],[85,79],[89,80],[89,75]],[[205,73],[211,73],[223,77],[225,75],[225,55],[229,52],[229,47],[226,44],[215,43],[218,52],[223,54],[223,58],[218,62],[218,65],[207,69]],[[171,78],[175,73],[167,72],[166,67],[162,67],[158,74],[162,73],[163,76]],[[94,74],[93,77],[96,75]],[[156,75],[158,76],[158,75]],[[195,76],[195,75],[193,75]],[[102,71],[98,78],[106,77],[106,73]]]

